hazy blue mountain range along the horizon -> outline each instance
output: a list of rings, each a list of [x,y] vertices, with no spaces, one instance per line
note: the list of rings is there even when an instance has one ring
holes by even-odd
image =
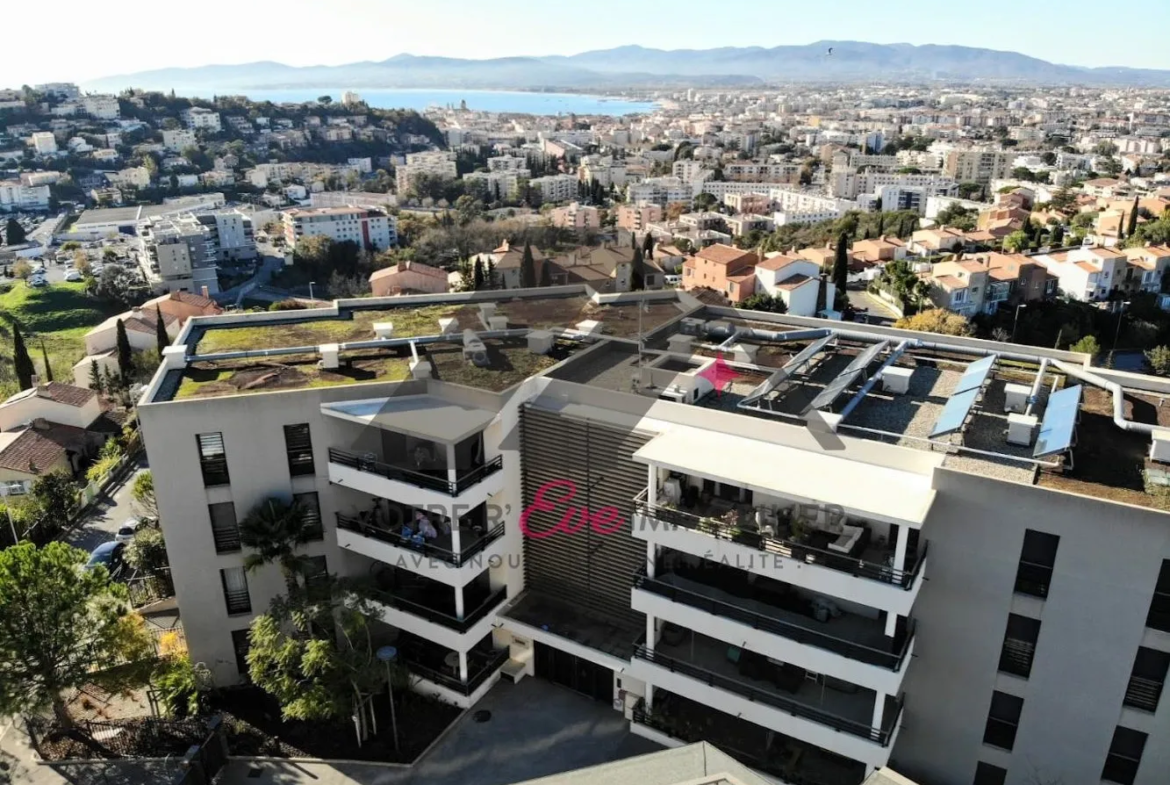
[[[381,62],[304,68],[259,62],[167,68],[105,77],[85,87],[236,92],[291,88],[541,90],[876,81],[1170,87],[1170,70],[1058,66],[1014,51],[972,47],[818,41],[770,49],[663,50],[629,46],[571,56],[494,60],[397,55]]]

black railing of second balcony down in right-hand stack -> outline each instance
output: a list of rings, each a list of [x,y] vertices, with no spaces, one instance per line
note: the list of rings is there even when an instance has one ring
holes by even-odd
[[[748,608],[738,605],[708,597],[701,592],[681,588],[665,580],[649,578],[646,576],[645,566],[642,566],[639,573],[634,577],[634,588],[653,592],[660,597],[665,597],[672,602],[681,602],[683,605],[689,605],[693,608],[698,608],[700,611],[723,617],[724,619],[738,621],[739,624],[748,625],[753,629],[760,629],[766,633],[772,633],[773,635],[780,635],[782,638],[787,638],[789,640],[793,640],[798,643],[815,646],[817,648],[821,648],[827,652],[841,654],[851,660],[858,660],[859,662],[867,662],[882,668],[889,668],[890,670],[899,670],[902,667],[902,663],[906,661],[906,654],[910,648],[910,641],[914,639],[914,620],[910,620],[907,626],[906,639],[902,642],[900,650],[883,652],[882,649],[865,646],[863,643],[855,643],[834,635],[827,635],[817,629],[811,629],[791,621],[785,621],[777,617],[768,615],[766,613],[749,611]]]

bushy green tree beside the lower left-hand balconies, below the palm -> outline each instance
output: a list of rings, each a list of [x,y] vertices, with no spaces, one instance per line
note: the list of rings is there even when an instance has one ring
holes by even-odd
[[[284,719],[337,719],[385,684],[374,656],[376,611],[336,578],[273,600],[248,633],[248,675],[281,704]]]

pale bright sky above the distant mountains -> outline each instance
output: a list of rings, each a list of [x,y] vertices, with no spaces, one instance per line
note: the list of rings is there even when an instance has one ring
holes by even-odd
[[[37,35],[9,35],[7,84],[87,82],[166,67],[275,60],[339,64],[418,55],[576,54],[639,43],[663,49],[859,40],[955,43],[1075,66],[1170,69],[1158,41],[1170,2],[1090,0],[57,0]],[[1100,27],[1097,27],[1100,25]],[[1102,33],[1099,41],[1093,32]],[[1142,30],[1150,36],[1137,37]],[[1135,35],[1136,34],[1136,35]],[[173,37],[172,37],[173,36]]]

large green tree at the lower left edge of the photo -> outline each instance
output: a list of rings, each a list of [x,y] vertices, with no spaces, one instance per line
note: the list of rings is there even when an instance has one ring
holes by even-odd
[[[0,551],[0,715],[51,708],[68,729],[63,693],[152,650],[124,586],[84,551],[25,542]]]

